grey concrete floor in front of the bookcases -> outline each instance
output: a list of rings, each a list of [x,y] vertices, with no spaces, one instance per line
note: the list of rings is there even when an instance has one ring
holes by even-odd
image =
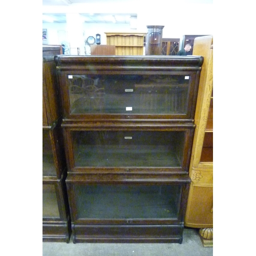
[[[199,229],[185,228],[182,244],[42,243],[42,256],[212,256],[213,247],[203,247]]]

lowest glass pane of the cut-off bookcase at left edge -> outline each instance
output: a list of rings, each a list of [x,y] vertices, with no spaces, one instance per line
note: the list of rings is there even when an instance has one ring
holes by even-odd
[[[53,184],[42,184],[42,217],[59,218],[57,197]]]

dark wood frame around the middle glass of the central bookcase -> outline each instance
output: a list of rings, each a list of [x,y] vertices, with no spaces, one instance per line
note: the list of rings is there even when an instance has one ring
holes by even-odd
[[[98,127],[97,127],[98,126]],[[161,126],[161,127],[159,127]],[[150,124],[148,126],[144,126],[143,123],[135,125],[92,125],[90,124],[63,124],[62,127],[65,127],[65,141],[66,141],[66,155],[67,155],[67,166],[68,172],[76,172],[76,173],[145,173],[145,174],[188,174],[188,166],[191,155],[191,147],[194,137],[195,125],[193,123],[183,124],[183,125],[170,125],[170,124],[161,124],[155,125]],[[183,148],[183,161],[181,167],[75,167],[74,164],[74,153],[73,153],[73,145],[72,145],[72,131],[167,131],[167,132],[177,132],[182,131],[185,132],[185,141]]]

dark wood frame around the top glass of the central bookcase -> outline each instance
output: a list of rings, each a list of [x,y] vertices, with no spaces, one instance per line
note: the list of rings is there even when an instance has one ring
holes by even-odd
[[[92,121],[124,121],[125,120],[180,120],[191,122],[194,119],[199,77],[203,58],[201,56],[55,56],[63,105],[63,117],[66,120]],[[181,115],[143,115],[143,114],[70,114],[69,93],[67,86],[68,75],[86,74],[166,74],[190,75],[190,91],[187,105],[187,114]]]

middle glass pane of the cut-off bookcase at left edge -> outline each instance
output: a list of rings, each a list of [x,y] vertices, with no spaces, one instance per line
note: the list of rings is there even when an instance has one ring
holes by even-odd
[[[56,175],[49,130],[42,130],[42,175]]]

